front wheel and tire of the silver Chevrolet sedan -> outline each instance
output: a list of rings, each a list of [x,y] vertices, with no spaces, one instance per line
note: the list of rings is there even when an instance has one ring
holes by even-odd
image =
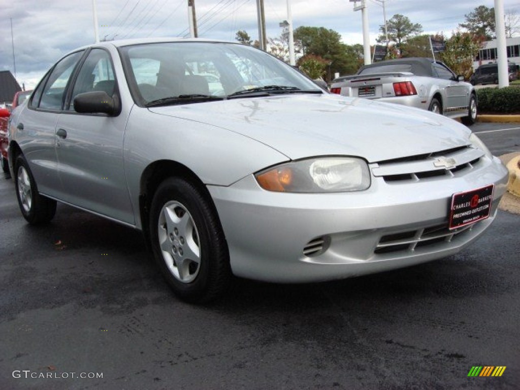
[[[231,279],[228,247],[205,192],[184,178],[165,179],[149,222],[155,260],[181,299],[204,303],[223,294]]]

